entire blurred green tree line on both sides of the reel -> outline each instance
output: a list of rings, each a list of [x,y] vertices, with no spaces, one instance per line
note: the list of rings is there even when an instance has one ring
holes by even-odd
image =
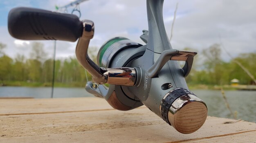
[[[53,59],[45,59],[47,53],[43,50],[42,43],[34,42],[31,45],[29,58],[20,54],[17,54],[15,58],[10,58],[3,52],[6,45],[0,43],[0,84],[6,85],[7,82],[13,81],[52,82]],[[184,50],[195,51],[192,48],[184,48]],[[230,84],[230,80],[234,78],[240,80],[240,84],[243,85],[253,84],[253,80],[234,60],[243,64],[256,77],[256,52],[240,54],[228,62],[222,60],[221,52],[222,49],[218,44],[213,44],[199,52],[194,58],[191,73],[186,77],[188,84],[224,85]],[[91,51],[91,53],[95,52]],[[95,61],[96,55],[93,54],[91,57]],[[86,82],[85,69],[75,57],[57,59],[54,74],[55,82],[66,85],[79,83],[76,86],[82,87]],[[92,80],[89,73],[88,80]]]

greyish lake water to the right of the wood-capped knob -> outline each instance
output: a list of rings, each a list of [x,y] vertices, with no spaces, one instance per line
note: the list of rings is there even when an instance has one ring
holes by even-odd
[[[208,115],[233,118],[226,107],[221,91],[193,90],[208,108]],[[256,122],[256,91],[225,91],[229,106],[233,112],[237,111],[237,118]]]

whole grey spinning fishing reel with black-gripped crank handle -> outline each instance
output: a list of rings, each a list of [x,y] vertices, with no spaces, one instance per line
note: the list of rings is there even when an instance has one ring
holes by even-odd
[[[89,93],[104,98],[121,111],[145,105],[177,131],[189,134],[198,130],[207,118],[206,104],[189,91],[185,81],[197,53],[171,47],[162,17],[163,2],[147,0],[148,30],[143,30],[140,37],[146,45],[124,37],[112,38],[101,46],[98,65],[87,53],[94,35],[90,20],[21,7],[10,11],[8,29],[13,37],[23,40],[79,38],[76,57],[95,82],[86,84]],[[178,61],[185,61],[184,67]]]

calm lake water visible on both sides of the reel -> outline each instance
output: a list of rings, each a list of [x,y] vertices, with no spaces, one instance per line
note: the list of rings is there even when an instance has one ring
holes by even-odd
[[[0,97],[50,98],[50,87],[0,87]],[[208,107],[208,115],[232,118],[219,90],[192,90]],[[229,106],[238,119],[256,122],[256,91],[225,91]],[[94,97],[83,88],[54,88],[54,98]]]

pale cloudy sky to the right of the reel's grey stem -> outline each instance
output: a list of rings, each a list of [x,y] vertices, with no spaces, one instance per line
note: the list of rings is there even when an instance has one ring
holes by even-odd
[[[176,20],[173,30],[173,48],[182,49],[185,46],[197,48],[200,51],[213,43],[222,43],[228,51],[238,56],[241,52],[255,52],[256,19],[253,18],[256,9],[254,1],[202,1],[195,0],[193,10],[184,17]],[[184,1],[180,7],[185,8]],[[185,10],[185,9],[184,9]],[[166,23],[166,30],[170,31],[171,22]],[[170,35],[170,33],[168,33]],[[223,51],[223,50],[222,50]],[[230,59],[222,52],[222,57]]]

